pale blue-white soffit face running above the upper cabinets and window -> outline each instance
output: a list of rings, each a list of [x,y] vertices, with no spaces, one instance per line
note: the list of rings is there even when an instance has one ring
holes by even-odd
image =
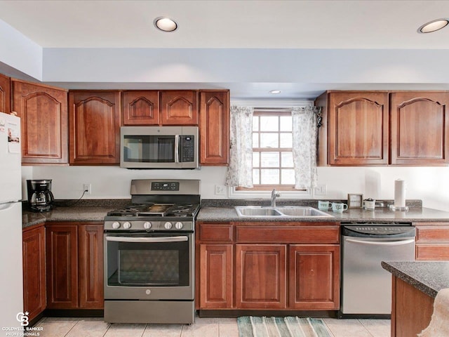
[[[45,48],[43,81],[447,83],[448,58],[443,49]]]

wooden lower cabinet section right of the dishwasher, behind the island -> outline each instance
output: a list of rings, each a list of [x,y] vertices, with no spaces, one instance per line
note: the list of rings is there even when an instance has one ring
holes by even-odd
[[[416,260],[449,260],[449,223],[415,223]]]

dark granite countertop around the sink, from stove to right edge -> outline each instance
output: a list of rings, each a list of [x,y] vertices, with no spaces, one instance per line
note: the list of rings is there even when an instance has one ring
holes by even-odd
[[[227,221],[310,221],[310,222],[355,222],[355,221],[370,221],[370,222],[400,222],[412,223],[419,221],[449,221],[449,212],[439,211],[438,209],[428,209],[426,207],[412,207],[408,211],[390,211],[388,208],[377,208],[374,211],[366,209],[348,209],[343,213],[333,213],[328,211],[332,218],[257,218],[257,217],[239,217],[234,206],[226,207],[201,207],[196,220],[199,221],[213,221],[213,222],[227,222]]]

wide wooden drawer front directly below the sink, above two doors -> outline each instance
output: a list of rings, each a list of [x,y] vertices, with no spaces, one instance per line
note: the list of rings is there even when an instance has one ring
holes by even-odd
[[[340,227],[237,226],[236,242],[271,242],[279,244],[338,244],[340,242]]]

